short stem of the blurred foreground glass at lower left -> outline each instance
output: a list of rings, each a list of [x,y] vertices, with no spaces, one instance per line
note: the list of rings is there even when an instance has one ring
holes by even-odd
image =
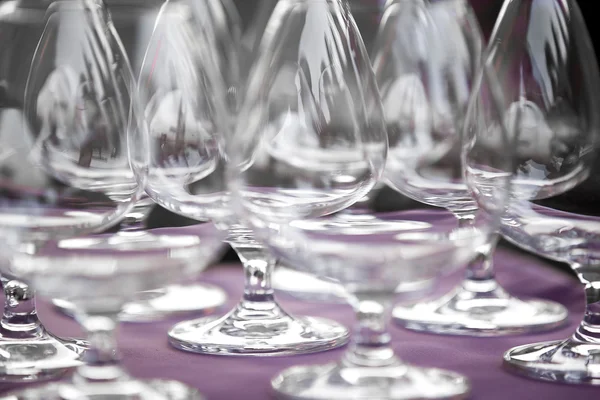
[[[75,384],[114,382],[128,379],[121,368],[117,349],[116,328],[119,310],[89,312],[80,307],[77,321],[87,334],[89,348],[84,355],[84,365],[77,367],[73,376]]]

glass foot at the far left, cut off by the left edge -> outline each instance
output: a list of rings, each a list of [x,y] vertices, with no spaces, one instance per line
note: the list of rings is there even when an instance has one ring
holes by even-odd
[[[87,343],[63,339],[46,331],[36,338],[0,337],[0,382],[55,379],[81,365]]]

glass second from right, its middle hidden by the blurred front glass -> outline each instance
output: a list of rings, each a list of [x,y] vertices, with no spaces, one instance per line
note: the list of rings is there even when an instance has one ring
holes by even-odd
[[[460,137],[483,40],[465,0],[391,1],[377,39],[374,69],[390,135],[386,182],[404,195],[452,212],[469,226],[477,204],[463,179]],[[487,81],[490,87],[493,81]],[[501,89],[501,87],[498,87]],[[496,113],[502,124],[503,113]],[[395,321],[427,332],[496,336],[562,325],[566,309],[517,299],[494,279],[492,238],[484,263],[434,300],[399,305]]]

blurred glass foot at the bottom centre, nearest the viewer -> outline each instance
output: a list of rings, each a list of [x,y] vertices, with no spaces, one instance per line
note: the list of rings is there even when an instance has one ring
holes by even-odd
[[[273,378],[271,386],[277,398],[290,400],[464,399],[470,391],[468,380],[462,375],[402,364],[292,367]]]

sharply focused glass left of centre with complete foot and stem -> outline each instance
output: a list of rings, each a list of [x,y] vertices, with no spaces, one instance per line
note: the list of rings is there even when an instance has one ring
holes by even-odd
[[[226,144],[235,116],[228,108],[227,84],[210,62],[218,59],[213,31],[200,21],[185,4],[163,6],[140,74],[151,155],[142,168],[149,170],[147,192],[160,205],[212,219],[227,230],[226,241],[244,265],[245,291],[229,313],[181,322],[169,331],[169,340],[182,350],[220,355],[298,354],[340,346],[348,337],[343,326],[295,318],[281,309],[271,288],[274,258],[231,215]],[[207,159],[211,164],[204,163]]]

